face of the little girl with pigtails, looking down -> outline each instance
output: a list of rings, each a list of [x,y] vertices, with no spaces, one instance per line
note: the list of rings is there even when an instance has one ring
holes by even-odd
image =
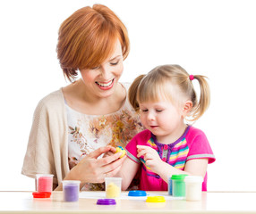
[[[183,126],[182,108],[179,109],[170,101],[140,103],[140,110],[143,126],[155,136],[175,135]]]

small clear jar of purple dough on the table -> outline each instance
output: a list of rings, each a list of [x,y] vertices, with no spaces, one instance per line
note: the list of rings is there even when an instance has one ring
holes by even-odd
[[[63,181],[64,202],[78,202],[80,183],[78,180]]]

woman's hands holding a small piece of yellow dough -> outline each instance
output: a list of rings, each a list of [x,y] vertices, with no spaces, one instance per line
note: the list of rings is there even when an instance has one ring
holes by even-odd
[[[101,147],[90,152],[83,158],[65,179],[81,180],[82,183],[102,183],[105,177],[114,177],[119,171],[124,162],[125,156],[121,159],[122,152],[115,152],[112,146]],[[98,157],[105,153],[105,157],[98,159]],[[108,155],[113,153],[111,155]]]

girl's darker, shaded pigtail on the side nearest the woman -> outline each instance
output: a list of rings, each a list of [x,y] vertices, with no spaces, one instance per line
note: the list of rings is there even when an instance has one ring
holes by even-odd
[[[141,83],[141,79],[144,77],[145,77],[145,75],[140,75],[138,78],[135,78],[134,81],[132,82],[132,85],[129,87],[129,90],[128,90],[129,102],[131,103],[131,105],[135,111],[139,111],[139,109],[140,109],[139,103],[137,101],[137,91],[138,91],[138,87]]]

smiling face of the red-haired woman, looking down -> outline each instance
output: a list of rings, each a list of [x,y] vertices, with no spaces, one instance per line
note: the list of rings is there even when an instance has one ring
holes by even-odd
[[[114,52],[107,60],[96,68],[81,70],[81,79],[90,90],[90,95],[103,98],[114,94],[123,70],[123,52],[117,39]]]

